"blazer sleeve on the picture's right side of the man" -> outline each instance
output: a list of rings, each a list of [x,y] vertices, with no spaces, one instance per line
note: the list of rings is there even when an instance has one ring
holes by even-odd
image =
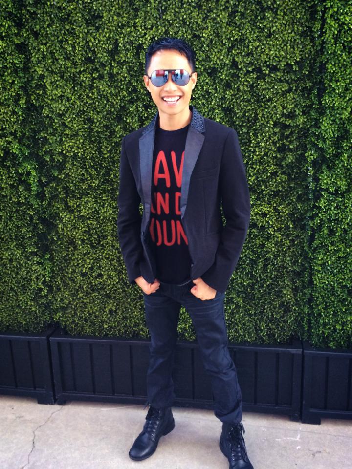
[[[220,165],[220,195],[226,225],[214,263],[201,276],[204,282],[224,293],[242,252],[250,220],[250,197],[236,130],[228,133]]]

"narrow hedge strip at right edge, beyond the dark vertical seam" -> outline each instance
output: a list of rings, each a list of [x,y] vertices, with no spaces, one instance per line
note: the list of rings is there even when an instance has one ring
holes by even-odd
[[[352,1],[318,8],[319,88],[308,141],[312,343],[352,347]]]

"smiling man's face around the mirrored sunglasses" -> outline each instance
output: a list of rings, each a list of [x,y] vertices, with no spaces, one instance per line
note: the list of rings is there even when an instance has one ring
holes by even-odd
[[[158,50],[153,54],[149,68],[147,70],[148,75],[151,76],[154,70],[165,70],[165,69],[183,69],[187,70],[191,75],[192,69],[185,55],[181,54],[174,49],[163,49]],[[144,75],[144,83],[149,89],[153,101],[160,113],[169,115],[176,115],[185,112],[185,108],[188,110],[189,102],[191,100],[192,89],[195,87],[197,82],[197,72],[194,72],[190,76],[190,80],[185,86],[178,86],[172,81],[171,73],[169,74],[168,81],[163,86],[154,86],[150,79]],[[179,96],[179,100],[176,103],[167,103],[163,98]]]

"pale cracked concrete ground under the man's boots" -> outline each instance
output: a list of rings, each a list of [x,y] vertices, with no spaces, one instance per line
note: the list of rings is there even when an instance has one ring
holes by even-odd
[[[156,452],[134,462],[128,452],[141,431],[142,405],[67,401],[41,405],[0,395],[1,469],[228,469],[212,410],[173,408],[175,429]],[[352,422],[321,425],[244,412],[248,456],[255,469],[352,469]]]

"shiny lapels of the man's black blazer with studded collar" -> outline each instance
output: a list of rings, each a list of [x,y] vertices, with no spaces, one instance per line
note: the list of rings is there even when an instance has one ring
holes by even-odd
[[[205,136],[204,118],[197,111],[197,109],[190,105],[192,110],[191,125],[188,128],[185,154],[183,161],[182,171],[182,184],[181,184],[181,218],[183,218],[187,207],[187,198],[189,192],[189,183],[193,168],[195,167],[200,149],[202,148]],[[151,209],[151,189],[152,189],[152,166],[153,166],[153,151],[154,151],[154,138],[155,128],[158,122],[158,113],[156,112],[151,122],[143,130],[139,138],[139,163],[141,171],[141,182],[145,202],[145,220],[146,223],[150,217]]]

